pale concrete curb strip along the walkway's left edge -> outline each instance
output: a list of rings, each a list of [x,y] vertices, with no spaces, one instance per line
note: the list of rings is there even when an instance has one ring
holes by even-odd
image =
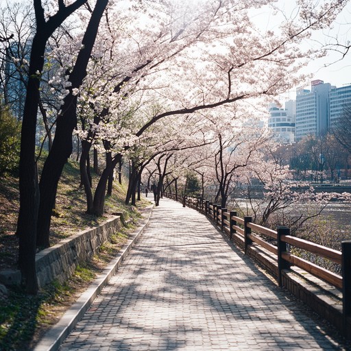
[[[119,269],[125,256],[127,256],[128,252],[132,249],[134,243],[136,243],[139,237],[141,237],[141,234],[143,234],[147,223],[149,223],[152,208],[153,206],[147,208],[149,209],[149,214],[147,215],[145,223],[132,232],[131,239],[125,243],[116,258],[114,258],[104,271],[99,274],[90,287],[80,295],[80,298],[69,308],[68,311],[66,311],[66,313],[64,313],[60,321],[44,335],[34,347],[34,351],[56,351],[60,348],[61,343],[73,330],[77,322],[82,319],[90,304],[95,300],[97,295],[99,295],[101,289],[107,285],[110,278],[114,275],[117,269]]]

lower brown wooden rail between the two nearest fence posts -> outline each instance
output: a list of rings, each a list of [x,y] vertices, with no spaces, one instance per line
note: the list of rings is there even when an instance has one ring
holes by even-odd
[[[339,289],[342,289],[343,287],[342,277],[338,276],[335,273],[332,273],[331,271],[328,271],[327,269],[319,267],[318,265],[315,265],[314,263],[308,262],[303,258],[290,254],[289,252],[282,252],[282,258],[284,258],[289,263],[300,267],[305,271],[308,271],[308,273],[313,274],[313,276],[317,276],[318,278],[326,280],[326,282],[335,285],[335,287]]]

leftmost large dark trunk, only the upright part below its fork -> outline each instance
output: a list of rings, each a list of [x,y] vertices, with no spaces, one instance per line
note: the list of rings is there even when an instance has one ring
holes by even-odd
[[[38,291],[35,256],[40,202],[38,170],[35,160],[40,77],[36,75],[36,71],[43,71],[46,42],[47,36],[38,31],[32,43],[19,162],[20,209],[16,231],[19,236],[19,269],[26,291],[34,294]]]

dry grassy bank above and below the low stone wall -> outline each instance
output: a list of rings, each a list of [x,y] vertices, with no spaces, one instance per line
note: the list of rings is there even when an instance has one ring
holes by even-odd
[[[98,177],[93,177],[93,189]],[[124,204],[126,186],[114,185],[113,194],[106,198],[104,217],[85,213],[85,194],[79,187],[79,165],[69,160],[58,185],[56,208],[51,221],[51,245],[80,230],[96,226],[114,213],[132,219],[129,228],[112,236],[111,242],[100,247],[90,262],[77,267],[75,274],[64,285],[53,282],[38,295],[27,295],[19,287],[0,293],[0,350],[29,350],[45,331],[58,322],[64,311],[88,287],[95,276],[117,254],[128,239],[128,229],[140,217],[136,208]],[[145,206],[141,202],[140,206]],[[0,270],[16,268],[18,240],[15,235],[19,210],[19,190],[16,178],[0,182]]]

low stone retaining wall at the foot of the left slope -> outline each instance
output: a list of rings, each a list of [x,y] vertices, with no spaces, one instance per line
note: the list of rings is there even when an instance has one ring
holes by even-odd
[[[64,282],[80,263],[93,256],[97,248],[109,241],[122,227],[121,217],[108,219],[101,226],[79,232],[36,254],[36,274],[39,287],[54,279]]]

